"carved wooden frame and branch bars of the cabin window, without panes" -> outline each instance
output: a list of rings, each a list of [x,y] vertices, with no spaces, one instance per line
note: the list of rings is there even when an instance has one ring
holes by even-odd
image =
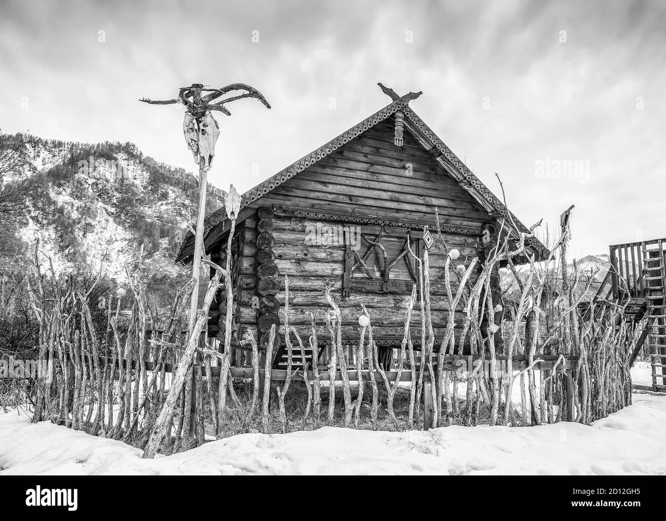
[[[358,233],[360,238],[352,238],[351,234]],[[380,273],[379,276],[370,275],[367,272],[367,277],[354,277],[356,268],[359,265],[364,265],[364,261],[368,260],[370,254],[374,252],[375,248],[378,248],[378,245],[373,245],[373,242],[378,242],[382,244],[382,238],[391,237],[391,238],[404,238],[404,246],[400,254],[393,259],[386,259],[384,255],[384,273]],[[409,238],[409,243],[407,242]],[[356,240],[360,240],[361,248],[354,249],[354,244]],[[422,258],[424,244],[423,244],[423,232],[420,230],[413,230],[410,228],[397,228],[384,224],[381,226],[354,226],[350,228],[345,228],[345,256],[344,256],[344,279],[342,283],[342,296],[349,297],[352,294],[352,291],[367,291],[372,293],[410,293],[412,291],[412,283],[416,283],[418,287],[418,262],[414,257],[408,252],[407,245],[410,245],[412,252]],[[359,253],[359,250],[363,252]],[[404,279],[391,279],[390,273],[391,269],[398,264],[398,261],[402,260],[404,257],[408,259],[407,265],[412,275],[412,282]],[[389,267],[386,269],[386,262],[388,261]],[[376,269],[379,270],[378,267]]]

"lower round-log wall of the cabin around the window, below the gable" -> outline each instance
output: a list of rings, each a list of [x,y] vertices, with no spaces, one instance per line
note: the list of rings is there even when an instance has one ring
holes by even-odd
[[[249,220],[248,220],[249,221]],[[344,223],[342,223],[344,224]],[[365,304],[370,312],[373,325],[376,326],[375,337],[379,341],[390,339],[396,341],[402,338],[404,314],[400,310],[405,309],[409,293],[374,293],[360,290],[352,291],[347,298],[342,297],[342,276],[344,274],[344,244],[317,245],[308,244],[308,230],[316,229],[319,225],[342,226],[340,222],[315,221],[308,218],[274,215],[272,218],[271,234],[274,238],[272,252],[274,263],[279,271],[276,281],[279,290],[276,299],[280,305],[280,324],[284,323],[284,275],[289,277],[290,285],[290,315],[289,321],[304,335],[309,331],[310,313],[318,313],[330,309],[324,298],[324,287],[326,283],[332,283],[333,293],[338,297],[340,310],[342,311],[343,334],[347,339],[358,339],[358,316],[362,314],[361,304]],[[444,234],[444,240],[450,248],[458,248],[461,256],[455,261],[455,265],[462,264],[466,267],[470,260],[476,257],[476,238],[455,234]],[[246,226],[246,245],[244,256],[241,260],[242,279],[240,283],[240,323],[251,326],[256,325],[259,312],[253,307],[256,297],[262,297],[257,291],[260,278],[256,275],[258,267],[256,244],[256,232],[250,226]],[[444,265],[446,253],[441,242],[436,242],[430,250],[430,273],[432,277],[431,301],[433,327],[441,333],[446,327],[448,317],[448,301],[446,287],[444,286]],[[458,289],[458,284],[452,277],[452,291]],[[476,273],[472,275],[472,281],[476,280]],[[456,311],[456,322],[462,321],[462,304]],[[415,307],[412,313],[412,324],[415,324],[412,335],[414,341],[420,341],[420,310]],[[318,334],[325,341],[328,337],[328,329],[323,319],[318,320]],[[263,331],[259,331],[263,333]]]

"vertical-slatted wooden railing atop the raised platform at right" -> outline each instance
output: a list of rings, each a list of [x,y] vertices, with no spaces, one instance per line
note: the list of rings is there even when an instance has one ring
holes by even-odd
[[[609,246],[613,299],[617,299],[619,295],[627,295],[627,293],[629,297],[645,298],[644,250],[655,250],[660,242],[666,246],[666,238]]]

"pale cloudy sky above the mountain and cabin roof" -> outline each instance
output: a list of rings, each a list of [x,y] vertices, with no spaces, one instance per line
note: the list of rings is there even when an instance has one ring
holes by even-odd
[[[388,104],[378,81],[422,90],[412,108],[527,226],[575,204],[580,257],[666,236],[665,27],[663,1],[0,0],[0,128],[193,170],[182,106],[137,99],[248,83],[272,110],[216,116],[210,172],[244,192]]]

